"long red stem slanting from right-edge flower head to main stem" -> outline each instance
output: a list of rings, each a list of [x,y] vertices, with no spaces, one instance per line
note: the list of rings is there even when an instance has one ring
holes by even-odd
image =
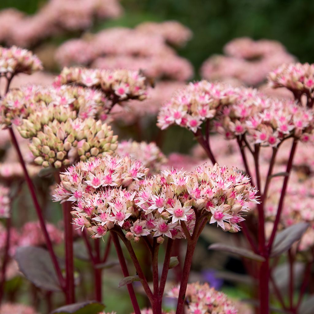
[[[273,226],[273,231],[272,231],[271,236],[270,236],[269,241],[268,241],[268,252],[271,252],[273,241],[275,239],[276,231],[278,228],[282,208],[284,205],[284,196],[285,196],[285,193],[287,190],[287,185],[288,185],[288,181],[289,181],[289,174],[290,174],[290,171],[292,168],[292,162],[293,162],[293,157],[295,155],[296,146],[297,146],[297,141],[293,141],[291,151],[290,151],[290,157],[289,157],[287,168],[286,168],[286,172],[288,173],[288,176],[284,177],[284,183],[283,183],[282,190],[281,190],[281,195],[280,195],[280,199],[279,199],[279,204],[278,204],[277,214],[276,214],[276,218],[275,218],[275,222],[274,222],[274,226]]]

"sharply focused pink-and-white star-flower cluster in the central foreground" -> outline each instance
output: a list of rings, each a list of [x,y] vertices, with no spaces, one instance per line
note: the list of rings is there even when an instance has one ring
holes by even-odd
[[[167,170],[144,178],[147,172],[139,162],[109,155],[81,162],[61,175],[54,199],[76,202],[74,223],[94,237],[118,225],[129,240],[153,234],[160,242],[163,236],[185,238],[182,224],[192,233],[196,212],[237,232],[242,214],[257,202],[248,177],[226,167],[203,165],[190,173]],[[122,188],[132,182],[133,189]]]

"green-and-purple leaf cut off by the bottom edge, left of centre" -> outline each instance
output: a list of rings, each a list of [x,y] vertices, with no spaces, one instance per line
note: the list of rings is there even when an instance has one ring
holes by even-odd
[[[51,314],[97,314],[104,308],[103,304],[96,301],[85,301],[59,307]]]

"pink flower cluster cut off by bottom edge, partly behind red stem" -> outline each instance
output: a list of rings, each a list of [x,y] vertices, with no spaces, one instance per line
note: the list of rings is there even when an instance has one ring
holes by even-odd
[[[180,285],[168,292],[171,298],[179,297]],[[227,295],[210,288],[207,283],[193,283],[187,285],[185,294],[188,314],[238,314],[234,304]]]

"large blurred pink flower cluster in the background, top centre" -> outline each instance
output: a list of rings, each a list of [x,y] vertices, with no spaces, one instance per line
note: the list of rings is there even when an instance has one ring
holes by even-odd
[[[187,80],[193,75],[190,62],[166,45],[166,38],[149,29],[111,28],[94,36],[65,42],[56,52],[62,66],[142,69],[153,78]]]

